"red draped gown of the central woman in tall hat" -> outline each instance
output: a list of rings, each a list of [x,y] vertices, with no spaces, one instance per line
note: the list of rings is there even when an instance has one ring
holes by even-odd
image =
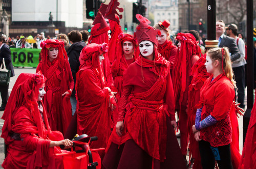
[[[154,67],[154,64],[156,67]],[[124,120],[123,136],[117,136],[114,128],[109,144],[113,142],[116,145],[124,143],[126,145],[131,143],[129,140],[133,140],[143,152],[160,162],[166,161],[166,154],[170,153],[166,152],[166,147],[175,145],[177,149],[174,148],[173,153],[176,153],[177,157],[181,157],[181,161],[177,160],[177,158],[176,165],[178,167],[174,166],[174,168],[183,168],[183,160],[173,128],[171,127],[172,129],[167,131],[166,125],[169,119],[175,120],[174,92],[169,74],[169,63],[162,57],[158,61],[139,58],[138,61],[129,66],[124,74],[123,87],[120,103],[122,109],[118,120]],[[169,132],[172,132],[173,144],[166,144]],[[108,154],[107,152],[103,161],[103,165],[106,168],[112,168],[111,166],[113,166],[113,159],[111,159],[111,152],[113,151],[111,147],[109,151],[110,153]],[[134,154],[137,153],[134,152]],[[122,154],[127,154],[125,148]],[[115,158],[117,157],[115,156]],[[129,163],[130,159],[132,161],[135,160],[132,159],[133,157],[128,158],[126,159],[127,163]],[[143,160],[140,162],[143,163]],[[123,163],[119,162],[118,168],[120,168],[120,165],[122,166]],[[173,163],[173,165],[175,164]],[[128,168],[129,166],[126,165]],[[154,165],[154,167],[156,166]]]

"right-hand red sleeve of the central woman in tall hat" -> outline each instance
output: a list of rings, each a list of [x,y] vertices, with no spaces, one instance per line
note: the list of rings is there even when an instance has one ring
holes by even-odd
[[[171,121],[175,120],[175,101],[174,101],[174,90],[172,78],[170,78],[170,73],[166,76],[166,92],[165,92],[165,103],[168,108],[168,117]]]

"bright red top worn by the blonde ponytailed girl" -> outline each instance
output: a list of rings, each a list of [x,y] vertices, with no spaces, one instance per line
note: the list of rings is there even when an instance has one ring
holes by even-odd
[[[212,77],[213,75],[204,82],[201,89],[200,102],[204,105],[201,120],[211,115],[218,122],[200,130],[200,135],[212,147],[219,147],[231,143],[229,110],[234,99],[234,86],[224,74],[220,74],[214,80]]]

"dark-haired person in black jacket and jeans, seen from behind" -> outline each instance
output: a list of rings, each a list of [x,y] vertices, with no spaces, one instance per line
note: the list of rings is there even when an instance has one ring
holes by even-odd
[[[76,86],[76,73],[79,70],[79,56],[82,48],[86,46],[86,43],[82,41],[82,34],[79,31],[71,31],[68,34],[69,41],[71,43],[71,46],[68,49],[68,58],[69,58],[69,64],[72,72],[72,76],[75,82]],[[76,111],[76,90],[72,91],[72,95],[70,97],[71,105],[72,105],[72,115],[74,115]]]

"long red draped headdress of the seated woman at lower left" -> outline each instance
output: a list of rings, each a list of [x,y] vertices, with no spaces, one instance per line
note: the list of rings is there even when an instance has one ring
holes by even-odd
[[[46,78],[40,72],[37,74],[31,73],[22,73],[18,76],[10,97],[8,99],[6,109],[2,119],[5,120],[3,129],[2,129],[2,137],[5,138],[6,144],[13,141],[12,138],[8,138],[9,132],[12,130],[12,122],[13,117],[16,114],[16,110],[20,106],[27,107],[32,112],[32,118],[36,122],[38,135],[39,137],[43,137],[42,128],[40,128],[40,113],[38,110],[37,98],[39,94],[39,88],[44,87]],[[47,118],[45,119],[47,120]],[[48,122],[45,123],[48,125]],[[49,126],[47,126],[49,127]],[[32,128],[27,128],[26,131],[23,132],[31,132]]]

